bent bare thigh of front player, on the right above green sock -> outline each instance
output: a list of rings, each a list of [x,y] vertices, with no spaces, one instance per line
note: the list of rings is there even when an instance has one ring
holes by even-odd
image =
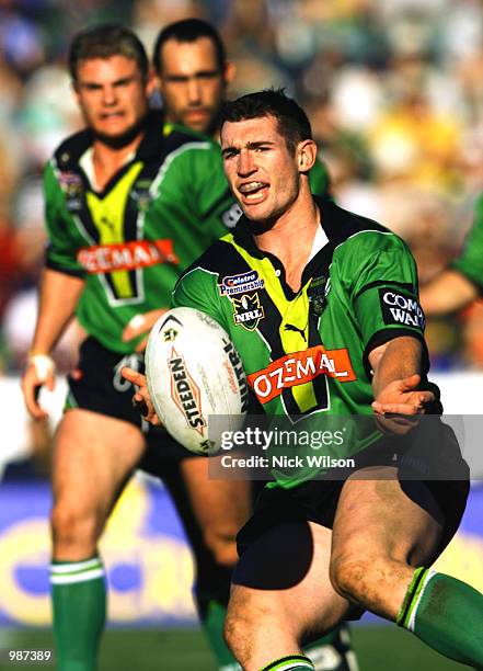
[[[333,526],[332,560],[388,558],[412,566],[435,560],[442,512],[424,482],[402,486],[392,467],[359,470],[344,484]]]

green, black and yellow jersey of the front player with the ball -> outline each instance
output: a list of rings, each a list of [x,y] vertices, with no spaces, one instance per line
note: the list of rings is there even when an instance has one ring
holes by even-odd
[[[403,240],[330,200],[318,202],[321,229],[299,292],[242,217],[173,294],[174,306],[200,309],[228,331],[265,412],[292,421],[371,414],[370,351],[399,336],[424,342],[416,266]]]

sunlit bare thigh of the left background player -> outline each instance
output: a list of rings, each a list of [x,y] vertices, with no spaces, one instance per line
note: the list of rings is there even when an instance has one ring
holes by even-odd
[[[142,434],[134,424],[89,410],[68,410],[55,439],[55,504],[78,514],[94,511],[106,516],[143,447]]]

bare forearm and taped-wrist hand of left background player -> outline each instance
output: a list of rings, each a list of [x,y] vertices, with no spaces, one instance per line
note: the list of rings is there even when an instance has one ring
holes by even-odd
[[[42,386],[53,390],[55,366],[50,357],[55,344],[73,316],[83,280],[46,269],[41,280],[38,317],[27,365],[22,377],[26,409],[34,419],[47,417],[37,400]]]

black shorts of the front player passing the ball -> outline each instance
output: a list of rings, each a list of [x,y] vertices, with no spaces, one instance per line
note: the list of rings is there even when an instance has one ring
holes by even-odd
[[[470,490],[470,475],[453,431],[440,422],[439,418],[435,417],[434,421],[436,428],[430,431],[432,439],[437,437],[439,458],[444,457],[446,464],[451,464],[455,479],[437,479],[438,474],[434,474],[430,463],[434,460],[434,450],[427,457],[424,450],[414,448],[414,439],[411,441],[391,439],[390,442],[389,439],[384,439],[356,455],[356,466],[346,469],[344,477],[341,477],[338,471],[336,479],[329,474],[324,479],[307,480],[290,489],[265,487],[257,498],[252,518],[238,534],[239,555],[241,556],[252,543],[278,524],[311,521],[332,528],[345,480],[368,466],[395,466],[401,488],[419,505],[423,505],[424,498],[421,496],[421,485],[429,490],[445,520],[440,548],[442,550],[456,533],[464,512]],[[426,445],[425,431],[421,432],[421,439]],[[434,477],[426,479],[423,474],[428,473]]]

